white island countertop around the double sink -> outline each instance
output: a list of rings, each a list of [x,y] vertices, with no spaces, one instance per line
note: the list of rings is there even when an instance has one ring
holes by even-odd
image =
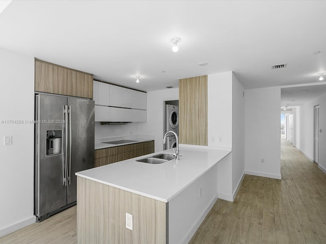
[[[77,172],[76,175],[128,192],[169,202],[231,150],[180,145],[180,160],[149,164],[136,160],[172,149]]]

